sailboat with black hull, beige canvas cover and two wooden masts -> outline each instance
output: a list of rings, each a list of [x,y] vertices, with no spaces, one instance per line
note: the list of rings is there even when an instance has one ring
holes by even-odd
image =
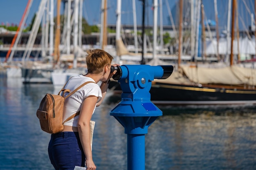
[[[233,1],[232,10],[235,10],[235,6],[236,0]],[[182,0],[180,0],[181,7]],[[256,104],[256,70],[233,64],[234,15],[232,18],[229,65],[221,62],[181,64],[182,39],[180,39],[176,70],[167,79],[155,79],[152,82],[150,95],[153,103],[165,105]],[[182,10],[180,10],[180,23],[182,23]],[[180,27],[180,35],[181,31]],[[113,87],[116,92],[121,90],[118,86]]]

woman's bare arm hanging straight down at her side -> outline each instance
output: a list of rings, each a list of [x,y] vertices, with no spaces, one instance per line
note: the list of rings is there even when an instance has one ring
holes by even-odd
[[[85,164],[88,170],[95,170],[96,166],[92,160],[92,148],[90,144],[90,120],[94,107],[97,103],[98,98],[96,96],[89,96],[83,101],[79,120],[78,120],[78,132],[79,138],[85,153],[86,161]]]

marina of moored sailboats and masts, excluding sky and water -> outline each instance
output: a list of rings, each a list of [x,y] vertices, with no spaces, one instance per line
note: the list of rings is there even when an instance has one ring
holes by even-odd
[[[142,25],[137,26],[134,18],[133,27],[121,24],[121,0],[117,0],[119,5],[116,5],[116,25],[108,25],[105,11],[108,8],[108,3],[102,0],[101,9],[105,10],[100,13],[100,30],[90,34],[82,33],[81,26],[84,25],[82,24],[83,2],[81,0],[57,0],[57,4],[54,6],[56,18],[46,12],[52,12],[52,2],[53,0],[40,2],[38,15],[34,18],[30,34],[25,33],[24,37],[20,37],[21,34],[24,34],[22,31],[17,31],[15,36],[9,32],[2,34],[1,39],[4,42],[4,46],[1,46],[2,51],[7,52],[9,47],[5,58],[7,61],[2,62],[2,66],[8,67],[8,77],[20,75],[23,83],[52,83],[54,86],[62,86],[69,77],[86,73],[84,58],[86,49],[101,48],[114,56],[114,62],[120,65],[174,66],[173,75],[169,79],[153,81],[150,93],[154,103],[167,105],[256,103],[254,97],[256,93],[254,88],[256,75],[254,66],[256,55],[255,17],[253,9],[247,8],[244,13],[240,7],[237,7],[237,4],[247,7],[252,3],[251,1],[245,3],[229,0],[228,3],[224,3],[229,8],[225,14],[227,29],[223,30],[218,26],[217,18],[215,21],[211,19],[206,20],[205,23],[202,22],[209,15],[208,11],[205,11],[209,4],[204,4],[201,0],[175,2],[175,6],[169,13],[170,19],[175,19],[175,23],[172,22],[167,26],[158,24],[158,18],[160,21],[163,19],[161,17],[163,4],[162,0],[159,2],[155,0],[152,4],[154,9],[150,11],[150,15],[153,14],[153,26],[146,25],[145,21]],[[29,12],[31,3],[31,1],[27,3],[25,16]],[[218,7],[223,2],[214,0],[214,3],[211,3],[214,4],[214,8],[212,7],[211,10],[214,9],[214,13],[217,15]],[[132,4],[132,15],[136,17],[135,5],[137,2],[133,1]],[[168,5],[168,1],[165,1],[164,4]],[[61,7],[65,9],[62,13],[60,13]],[[148,8],[146,4],[142,7],[143,9]],[[186,21],[182,19],[185,13],[179,10],[180,8],[187,9],[191,14],[186,15]],[[175,16],[172,16],[172,13]],[[238,30],[238,25],[235,22],[239,23],[239,17],[234,13],[244,17],[249,16],[251,22],[247,23],[250,24],[246,28],[248,30],[244,30],[245,28],[243,31]],[[144,14],[148,15],[149,12]],[[63,15],[65,17],[61,20]],[[25,20],[25,18],[22,17],[21,28],[24,26],[23,19]],[[54,24],[57,27],[49,22],[54,19],[56,19]],[[41,22],[49,28],[42,28],[41,32],[36,34]],[[145,33],[148,29],[150,29],[150,33]],[[159,33],[157,29],[159,29]],[[219,29],[222,32],[218,35]],[[132,31],[137,32],[132,33]],[[189,35],[186,35],[187,31],[189,31]],[[53,33],[55,33],[54,37]],[[163,34],[166,34],[165,37]],[[173,36],[176,42],[169,40],[163,44],[164,38],[168,38],[168,36]],[[178,37],[183,37],[184,40],[178,40]],[[11,38],[13,40],[9,44]],[[18,43],[18,38],[23,44]],[[20,46],[23,46],[22,50]],[[22,51],[18,53],[22,55],[22,58],[18,57],[21,59],[20,62],[12,62],[14,58],[17,59],[17,57],[13,58],[15,51]],[[37,56],[34,56],[33,52],[36,52]],[[10,71],[12,69],[14,71]],[[113,86],[117,87],[115,92],[120,92],[118,85]],[[165,96],[158,95],[163,92],[166,92]]]

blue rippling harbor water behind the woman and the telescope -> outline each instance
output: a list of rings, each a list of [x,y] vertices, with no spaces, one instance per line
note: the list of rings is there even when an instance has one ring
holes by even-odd
[[[0,169],[53,170],[50,135],[40,129],[36,109],[52,84],[22,84],[0,77]],[[97,170],[127,169],[124,128],[109,112],[119,97],[108,93],[96,109],[93,159]],[[164,115],[145,137],[146,170],[255,170],[256,106],[159,108]]]

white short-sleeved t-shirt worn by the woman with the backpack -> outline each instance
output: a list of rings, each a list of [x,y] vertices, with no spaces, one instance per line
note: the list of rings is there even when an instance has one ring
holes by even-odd
[[[67,82],[65,89],[70,89],[70,92],[72,92],[81,84],[88,81],[94,82],[94,80],[90,77],[85,77],[83,75],[74,76]],[[65,96],[68,94],[69,93],[66,93]],[[81,110],[83,100],[90,95],[98,97],[97,103],[102,99],[101,88],[99,87],[98,84],[96,83],[85,84],[85,86],[81,87],[78,91],[76,91],[70,97],[67,97],[64,103],[63,122],[67,118],[69,118],[71,115]],[[96,105],[94,106],[94,110],[95,110],[95,107]],[[94,113],[94,110],[93,110],[93,113]],[[73,119],[66,121],[64,125],[77,127],[78,118],[79,116],[76,116]]]

